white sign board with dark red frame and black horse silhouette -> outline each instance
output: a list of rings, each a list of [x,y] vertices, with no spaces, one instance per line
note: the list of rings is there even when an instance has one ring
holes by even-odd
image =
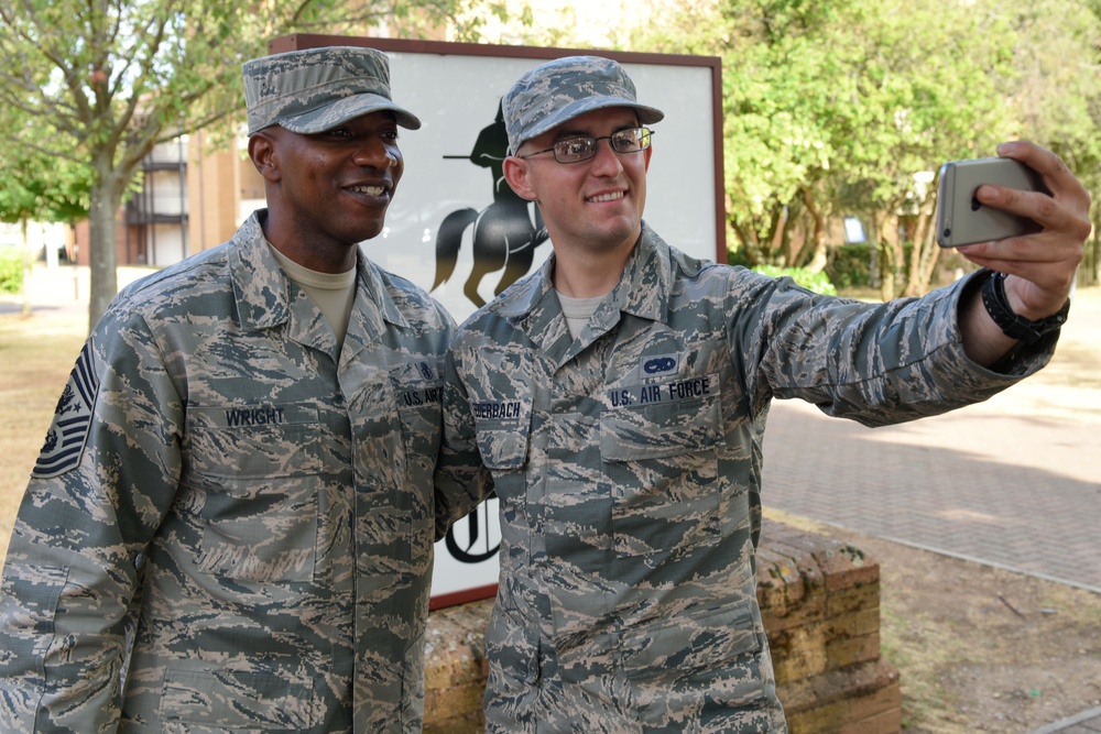
[[[639,100],[665,112],[654,130],[645,221],[697,258],[726,260],[718,58],[329,35],[276,39],[272,53],[371,46],[390,57],[394,101],[419,130],[400,131],[405,173],[383,233],[363,243],[381,267],[430,291],[461,322],[550,253],[534,205],[501,178],[508,147],[502,95],[549,58],[615,58]],[[497,501],[451,528],[436,547],[433,607],[491,595],[500,541]]]

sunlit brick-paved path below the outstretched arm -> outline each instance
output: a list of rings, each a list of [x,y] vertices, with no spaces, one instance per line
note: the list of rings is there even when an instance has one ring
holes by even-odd
[[[1101,593],[1101,288],[986,403],[872,429],[777,401],[764,454],[768,506]],[[1101,709],[1033,734],[1054,732],[1101,734]]]

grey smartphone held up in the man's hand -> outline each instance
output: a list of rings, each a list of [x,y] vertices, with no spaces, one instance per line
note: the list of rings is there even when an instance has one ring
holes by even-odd
[[[983,184],[1025,191],[1046,191],[1039,174],[1013,158],[950,161],[940,166],[937,193],[937,244],[959,248],[975,242],[1032,234],[1039,224],[1027,217],[979,204],[974,193]]]

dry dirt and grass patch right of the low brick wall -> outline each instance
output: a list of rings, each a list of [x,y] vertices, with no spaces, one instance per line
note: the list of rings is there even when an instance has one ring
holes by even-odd
[[[1101,706],[1101,595],[774,510],[880,565],[906,732],[1024,734]]]

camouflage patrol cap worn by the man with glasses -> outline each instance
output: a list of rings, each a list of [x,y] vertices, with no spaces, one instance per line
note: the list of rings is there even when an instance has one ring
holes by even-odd
[[[630,107],[643,124],[665,117],[657,108],[640,105],[623,67],[600,56],[567,56],[536,66],[512,85],[501,106],[513,154],[525,141],[606,107]]]

